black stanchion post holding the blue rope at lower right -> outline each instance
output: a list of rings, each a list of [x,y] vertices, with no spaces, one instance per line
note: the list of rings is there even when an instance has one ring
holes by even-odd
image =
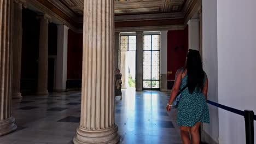
[[[253,116],[252,110],[245,110],[246,144],[254,144]]]

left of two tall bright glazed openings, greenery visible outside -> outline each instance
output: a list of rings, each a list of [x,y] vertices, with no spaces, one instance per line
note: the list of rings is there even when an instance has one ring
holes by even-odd
[[[122,88],[135,88],[136,35],[120,36],[120,72]]]

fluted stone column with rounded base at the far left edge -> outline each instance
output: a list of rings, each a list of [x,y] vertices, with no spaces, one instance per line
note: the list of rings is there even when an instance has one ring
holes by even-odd
[[[14,131],[11,116],[11,19],[13,0],[0,2],[0,136]]]

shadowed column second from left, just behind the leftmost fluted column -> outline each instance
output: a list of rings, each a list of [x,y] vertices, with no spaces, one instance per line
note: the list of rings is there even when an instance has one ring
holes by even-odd
[[[15,0],[13,8],[13,98],[22,98],[20,93],[22,49],[22,5],[24,0]]]

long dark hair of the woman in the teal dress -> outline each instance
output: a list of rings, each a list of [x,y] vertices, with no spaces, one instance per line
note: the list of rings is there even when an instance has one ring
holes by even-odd
[[[202,68],[200,53],[197,50],[189,50],[187,59],[188,89],[190,93],[197,88],[198,92],[203,91],[205,72]]]

